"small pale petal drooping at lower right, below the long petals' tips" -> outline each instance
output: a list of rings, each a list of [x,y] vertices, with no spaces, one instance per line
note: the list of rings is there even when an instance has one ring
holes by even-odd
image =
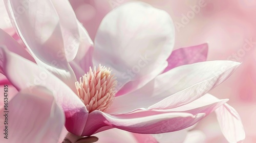
[[[245,139],[244,127],[238,112],[224,104],[216,111],[221,131],[228,142],[239,142]]]

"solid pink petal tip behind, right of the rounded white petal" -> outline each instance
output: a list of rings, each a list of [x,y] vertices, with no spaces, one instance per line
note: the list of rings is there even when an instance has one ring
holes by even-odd
[[[204,62],[207,58],[208,44],[200,44],[196,46],[182,47],[174,50],[167,59],[168,66],[163,73],[184,64],[192,64],[197,62]]]

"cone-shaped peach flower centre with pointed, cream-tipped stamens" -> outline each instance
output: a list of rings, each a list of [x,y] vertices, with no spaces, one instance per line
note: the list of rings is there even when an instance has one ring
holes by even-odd
[[[99,65],[97,70],[95,66],[92,70],[90,67],[89,72],[81,78],[80,82],[75,83],[77,96],[86,105],[89,113],[94,110],[109,109],[114,101],[117,84],[116,78],[111,75],[110,68]]]

